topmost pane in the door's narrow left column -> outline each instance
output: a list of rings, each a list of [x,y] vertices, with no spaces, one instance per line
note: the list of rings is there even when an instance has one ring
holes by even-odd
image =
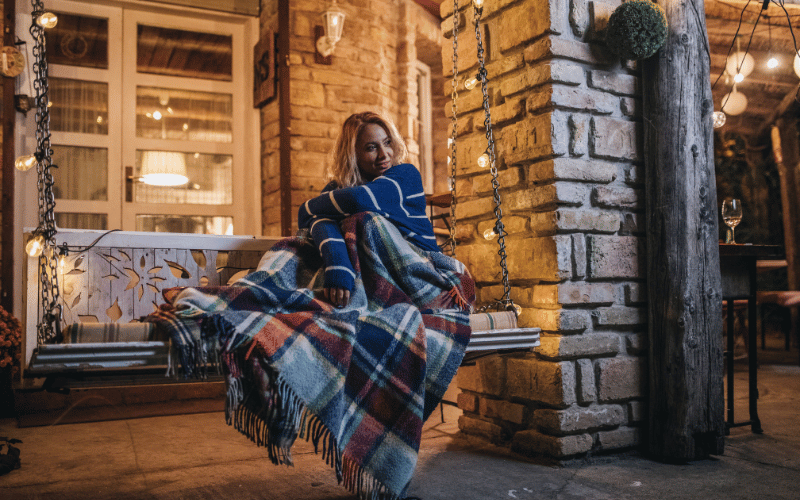
[[[44,30],[47,62],[108,69],[108,19],[56,14],[58,24]]]

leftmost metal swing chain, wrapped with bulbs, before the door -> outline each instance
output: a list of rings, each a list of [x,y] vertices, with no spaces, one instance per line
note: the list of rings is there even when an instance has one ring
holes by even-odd
[[[36,172],[39,191],[39,226],[36,233],[44,237],[44,250],[39,255],[42,317],[37,325],[37,340],[43,344],[61,333],[61,300],[58,286],[58,257],[56,256],[55,196],[51,168],[53,150],[50,148],[50,110],[48,108],[48,72],[44,28],[36,22],[44,12],[42,0],[31,0],[33,8],[30,33],[33,46],[33,87],[36,91]]]

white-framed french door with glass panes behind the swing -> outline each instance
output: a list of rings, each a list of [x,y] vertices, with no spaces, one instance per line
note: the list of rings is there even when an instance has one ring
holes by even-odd
[[[260,234],[255,18],[125,2],[46,8],[59,15],[47,32],[57,225]],[[26,22],[18,15],[18,32]],[[164,173],[181,180],[152,184]],[[25,203],[35,226],[36,200]]]

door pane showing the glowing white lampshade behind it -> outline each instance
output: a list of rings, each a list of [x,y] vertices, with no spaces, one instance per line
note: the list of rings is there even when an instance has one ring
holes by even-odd
[[[203,205],[230,205],[233,203],[233,175],[230,155],[176,153],[161,151],[136,151],[134,176],[162,172],[165,161],[158,155],[169,155],[172,163],[169,173],[183,175],[189,182],[182,186],[150,186],[134,184],[137,203],[197,203]],[[177,158],[176,158],[177,156]],[[177,160],[177,161],[175,161]]]

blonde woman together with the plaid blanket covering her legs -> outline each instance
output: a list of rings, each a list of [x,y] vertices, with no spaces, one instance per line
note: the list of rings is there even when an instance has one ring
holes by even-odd
[[[333,180],[299,210],[311,238],[282,240],[231,286],[176,291],[154,319],[186,373],[220,352],[229,424],[275,463],[310,439],[360,498],[403,497],[471,333],[474,284],[436,246],[405,156],[390,122],[351,116]]]

